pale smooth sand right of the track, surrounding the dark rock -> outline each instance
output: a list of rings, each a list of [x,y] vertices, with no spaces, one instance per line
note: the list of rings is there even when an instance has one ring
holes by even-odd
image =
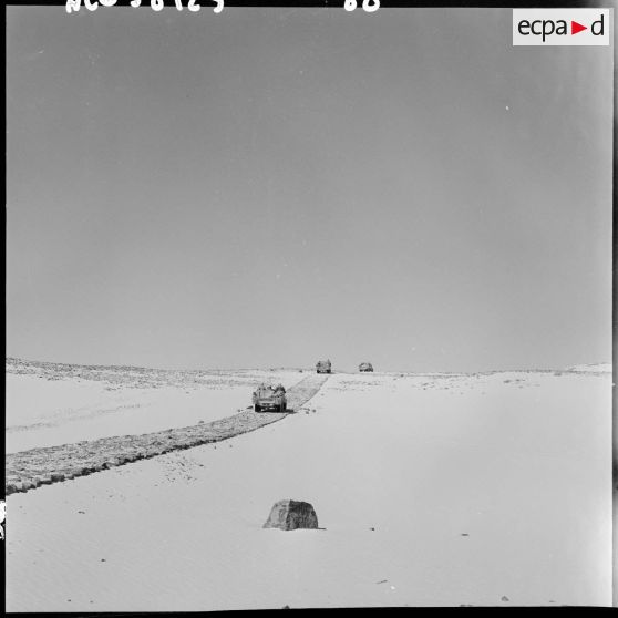
[[[262,529],[279,499],[326,529]],[[334,374],[233,440],[8,497],[9,611],[611,602],[611,375]]]

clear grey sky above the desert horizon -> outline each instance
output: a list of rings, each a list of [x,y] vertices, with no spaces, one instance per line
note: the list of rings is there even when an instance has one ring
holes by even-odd
[[[508,9],[7,9],[7,354],[611,361],[612,49]]]

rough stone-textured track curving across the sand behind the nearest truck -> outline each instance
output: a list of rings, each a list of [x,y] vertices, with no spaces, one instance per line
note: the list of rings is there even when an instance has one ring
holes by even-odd
[[[327,380],[328,375],[312,374],[291,387],[287,393],[287,413],[257,413],[247,409],[210,423],[10,453],[6,457],[6,495],[255,431],[293,413]]]

